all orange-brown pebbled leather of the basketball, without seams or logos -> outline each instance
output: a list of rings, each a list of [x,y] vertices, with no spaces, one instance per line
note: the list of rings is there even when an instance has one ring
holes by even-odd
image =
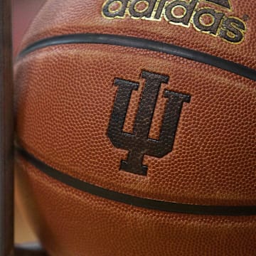
[[[245,41],[230,44],[166,21],[106,19],[104,1],[47,1],[23,39],[72,33],[136,36],[198,50],[256,68],[255,1],[231,0],[229,16],[247,18]],[[218,6],[203,1],[199,6]],[[124,122],[132,133],[144,78],[168,75],[149,131],[159,139],[164,90],[190,95],[171,153],[144,156],[147,175],[119,170],[127,151],[107,136],[117,87],[139,83]],[[48,46],[15,65],[16,134],[36,158],[81,181],[159,201],[255,206],[255,81],[211,65],[151,50],[103,44]],[[16,157],[17,189],[34,230],[53,256],[255,255],[256,216],[166,213],[117,203],[42,174]]]

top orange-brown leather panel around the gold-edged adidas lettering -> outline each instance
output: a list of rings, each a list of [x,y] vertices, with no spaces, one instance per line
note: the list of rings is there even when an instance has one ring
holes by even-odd
[[[245,41],[239,45],[232,45],[218,37],[199,33],[193,26],[190,28],[174,26],[164,20],[158,22],[131,18],[114,20],[102,18],[101,11],[104,2],[103,0],[69,0],[60,4],[58,0],[48,1],[31,24],[30,30],[23,38],[21,48],[50,36],[70,33],[110,33],[174,43],[256,68],[255,1],[231,0],[232,11],[220,9],[215,4],[204,1],[201,1],[198,6],[198,9],[201,6],[210,6],[224,12],[227,16],[236,16],[240,19],[247,16]]]

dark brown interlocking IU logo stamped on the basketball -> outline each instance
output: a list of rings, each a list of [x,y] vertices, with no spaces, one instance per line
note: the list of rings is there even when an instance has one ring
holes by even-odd
[[[139,83],[120,78],[114,79],[114,85],[118,89],[107,129],[107,136],[115,147],[129,151],[127,160],[121,161],[120,169],[146,176],[147,166],[142,164],[144,155],[161,158],[171,152],[183,102],[190,102],[191,96],[164,90],[164,97],[168,98],[168,100],[160,136],[158,140],[151,139],[149,138],[149,130],[159,89],[162,83],[169,81],[169,76],[144,70],[142,71],[142,78],[146,81],[132,134],[123,132],[123,127],[132,91],[138,90]]]

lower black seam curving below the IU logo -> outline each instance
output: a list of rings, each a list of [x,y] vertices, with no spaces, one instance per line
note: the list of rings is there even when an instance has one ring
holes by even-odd
[[[36,169],[39,169],[44,174],[54,178],[55,180],[65,183],[68,186],[76,188],[80,191],[90,193],[101,198],[106,198],[119,203],[125,203],[130,206],[137,206],[140,208],[147,208],[151,210],[160,210],[171,213],[186,213],[198,215],[256,215],[256,206],[199,206],[183,203],[172,203],[167,201],[159,201],[149,198],[139,198],[137,196],[130,196],[124,193],[111,191],[106,188],[92,185],[78,178],[74,178],[68,174],[54,169],[43,163],[43,161],[36,159],[33,155],[28,153],[25,149],[16,146],[16,153],[26,159]]]

